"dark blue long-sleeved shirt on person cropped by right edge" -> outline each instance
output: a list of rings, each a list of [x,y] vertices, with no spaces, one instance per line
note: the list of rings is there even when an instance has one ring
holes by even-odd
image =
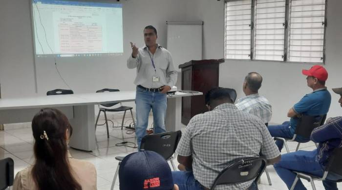
[[[310,139],[320,143],[317,148],[317,161],[324,168],[333,150],[342,147],[342,117],[335,117],[314,129]]]

